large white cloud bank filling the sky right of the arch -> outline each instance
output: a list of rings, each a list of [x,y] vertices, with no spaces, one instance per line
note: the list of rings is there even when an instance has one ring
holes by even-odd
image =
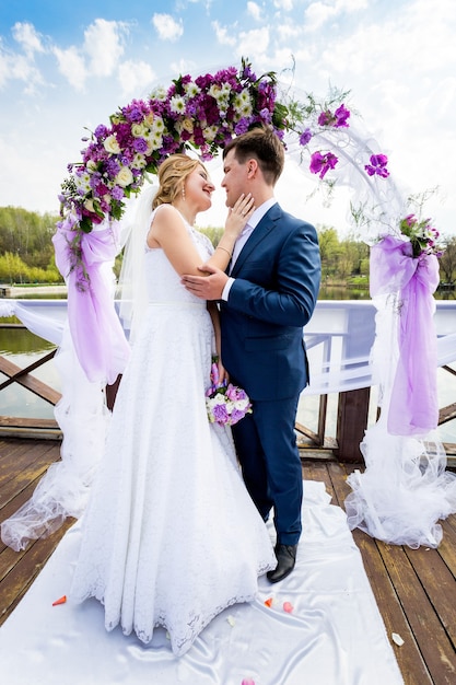
[[[303,88],[318,96],[329,82],[351,91],[349,104],[388,154],[396,183],[412,193],[441,186],[426,209],[447,230],[453,220],[441,198],[453,191],[445,164],[456,156],[454,3],[443,0],[435,12],[431,3],[412,0],[367,20],[363,14],[362,23],[343,33],[328,26],[320,38],[316,34],[308,42],[311,61],[305,60],[312,71],[296,50],[296,72],[304,74]]]

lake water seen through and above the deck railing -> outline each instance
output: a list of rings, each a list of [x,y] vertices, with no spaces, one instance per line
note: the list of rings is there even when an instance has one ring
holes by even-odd
[[[329,290],[329,289],[328,289]],[[340,294],[346,297],[340,297]],[[350,293],[350,298],[347,295]],[[359,297],[355,297],[358,293]],[[330,292],[321,294],[330,294],[331,297],[323,297],[325,300],[344,300],[344,299],[362,299],[369,300],[369,291],[352,291],[347,289],[330,289]],[[339,297],[336,297],[339,295]],[[444,293],[448,294],[448,293]],[[454,293],[452,293],[454,294]],[[442,298],[448,299],[448,298]],[[9,320],[1,320],[8,322]],[[1,323],[0,321],[0,323]],[[25,368],[33,363],[36,359],[43,358],[47,352],[54,349],[54,345],[38,338],[27,329],[22,328],[0,328],[0,355],[8,357],[17,367]],[[456,364],[454,364],[456,368]],[[33,375],[47,383],[56,390],[60,390],[60,379],[55,369],[54,362],[49,361],[45,365],[36,369]],[[0,373],[0,382],[5,380]],[[456,376],[451,375],[443,369],[437,370],[439,383],[439,404],[441,407],[447,406],[455,402],[456,398]],[[318,421],[318,396],[306,396],[300,403],[299,421],[307,426],[313,431],[317,431]],[[376,388],[372,388],[371,406],[370,406],[370,425],[375,422],[376,414]],[[9,387],[0,391],[0,415],[2,416],[20,416],[30,418],[54,418],[54,408],[51,405],[40,399],[30,391],[13,383]],[[326,423],[326,436],[336,436],[337,421],[337,395],[328,397],[328,413]],[[443,442],[456,443],[456,420],[441,426],[439,429],[440,438]]]

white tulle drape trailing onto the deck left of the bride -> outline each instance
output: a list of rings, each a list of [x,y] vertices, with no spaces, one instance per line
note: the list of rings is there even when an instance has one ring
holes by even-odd
[[[46,334],[47,339],[59,345],[54,363],[60,375],[62,397],[55,407],[55,417],[63,439],[61,460],[47,469],[31,499],[1,523],[2,541],[16,552],[24,549],[31,539],[56,531],[68,516],[81,516],[110,418],[104,388],[87,381],[68,326],[57,316],[52,329],[50,307],[45,307],[46,314],[38,325],[40,306],[27,304],[17,302],[13,307],[15,315],[26,325],[31,323],[33,333],[40,337]]]

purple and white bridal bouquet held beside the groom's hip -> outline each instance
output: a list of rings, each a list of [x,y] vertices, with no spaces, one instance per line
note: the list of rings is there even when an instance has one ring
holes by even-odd
[[[206,407],[211,423],[234,426],[246,414],[252,414],[247,393],[232,383],[219,383],[217,362],[212,363],[212,385],[206,392]]]

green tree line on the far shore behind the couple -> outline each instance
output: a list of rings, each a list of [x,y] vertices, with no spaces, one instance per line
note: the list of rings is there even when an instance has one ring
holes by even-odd
[[[19,207],[0,207],[0,283],[63,282],[55,258],[52,235],[58,216],[39,214]],[[221,228],[201,229],[214,245]],[[331,227],[318,227],[321,253],[321,280],[326,283],[369,283],[369,246],[355,235],[340,236]],[[440,258],[441,282],[456,281],[456,236],[444,240],[446,251]],[[121,259],[116,259],[119,272]]]

